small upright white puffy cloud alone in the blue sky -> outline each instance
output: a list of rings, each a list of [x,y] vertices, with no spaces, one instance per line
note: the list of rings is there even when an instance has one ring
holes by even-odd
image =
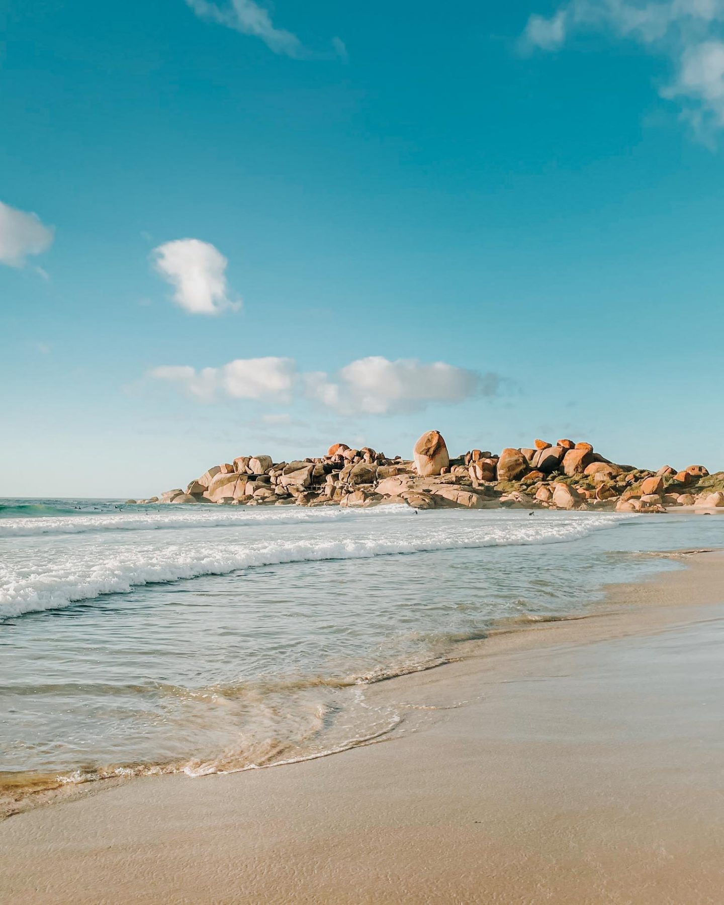
[[[174,287],[174,301],[191,314],[218,314],[238,309],[229,299],[224,255],[199,239],[176,239],[151,252],[157,272]]]

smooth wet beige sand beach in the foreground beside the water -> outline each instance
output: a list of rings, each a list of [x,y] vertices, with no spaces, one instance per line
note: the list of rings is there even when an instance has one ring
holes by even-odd
[[[375,686],[402,731],[0,824],[4,902],[719,903],[724,556]]]

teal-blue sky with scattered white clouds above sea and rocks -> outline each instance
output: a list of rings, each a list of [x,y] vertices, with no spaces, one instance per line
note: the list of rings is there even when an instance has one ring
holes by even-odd
[[[4,0],[0,495],[724,468],[724,0]]]

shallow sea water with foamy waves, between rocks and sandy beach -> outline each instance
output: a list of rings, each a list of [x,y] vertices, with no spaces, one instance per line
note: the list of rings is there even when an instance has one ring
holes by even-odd
[[[348,748],[402,719],[370,681],[723,536],[681,514],[0,500],[0,785]]]

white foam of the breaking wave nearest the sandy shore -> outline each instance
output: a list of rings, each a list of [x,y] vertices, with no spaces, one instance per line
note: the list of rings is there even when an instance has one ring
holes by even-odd
[[[470,513],[469,515],[473,515]],[[475,513],[475,516],[478,514]],[[481,513],[480,515],[484,515]],[[434,550],[550,544],[585,537],[610,527],[616,517],[604,514],[554,516],[536,519],[354,519],[345,533],[339,525],[326,531],[307,525],[293,534],[240,543],[186,538],[168,544],[84,543],[36,548],[33,557],[5,557],[0,563],[0,615],[56,609],[99,595],[128,592],[134,586],[207,575],[226,575],[238,569],[324,559],[363,559]],[[347,526],[345,526],[347,527]],[[364,530],[360,530],[360,527]],[[310,535],[310,529],[316,534]],[[372,528],[372,530],[370,530]],[[300,536],[301,535],[301,536]]]

